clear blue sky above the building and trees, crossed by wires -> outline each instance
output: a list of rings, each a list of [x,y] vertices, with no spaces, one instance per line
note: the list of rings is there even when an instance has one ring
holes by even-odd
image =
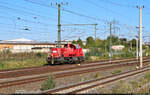
[[[138,31],[136,26],[139,24],[139,9],[136,5],[144,5],[143,36],[150,36],[149,0],[1,0],[0,40],[57,40],[56,2],[68,2],[68,5],[62,5],[61,8],[77,13],[76,15],[61,10],[61,24],[97,23],[97,38],[105,39],[109,35],[108,22],[114,20],[117,28],[113,34],[129,40]],[[62,40],[76,40],[79,37],[85,40],[88,36],[94,37],[94,26],[62,26],[61,29]],[[145,37],[144,41],[149,39]]]

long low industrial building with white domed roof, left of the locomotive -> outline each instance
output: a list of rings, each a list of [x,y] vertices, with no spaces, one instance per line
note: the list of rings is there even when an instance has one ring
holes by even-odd
[[[49,52],[56,47],[55,43],[39,42],[25,38],[0,41],[0,51],[9,50],[12,53],[20,52]]]

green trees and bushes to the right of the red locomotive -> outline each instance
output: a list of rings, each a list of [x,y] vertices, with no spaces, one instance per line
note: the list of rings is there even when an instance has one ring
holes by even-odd
[[[110,37],[101,40],[93,37],[87,37],[86,44],[84,45],[82,40],[79,38],[77,41],[72,43],[79,44],[82,48],[89,49],[89,52],[85,54],[86,59],[90,61],[96,61],[100,59],[109,59],[110,52]],[[136,57],[136,39],[127,41],[126,38],[118,38],[112,35],[112,45],[123,45],[125,48],[123,50],[115,51],[112,49],[112,59],[118,58],[133,58]],[[150,46],[143,45],[143,56],[150,56]]]

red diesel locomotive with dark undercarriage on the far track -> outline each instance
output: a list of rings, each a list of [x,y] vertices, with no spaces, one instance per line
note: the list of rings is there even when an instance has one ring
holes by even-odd
[[[82,48],[79,45],[65,44],[63,48],[52,48],[48,54],[49,64],[79,63],[85,60]]]

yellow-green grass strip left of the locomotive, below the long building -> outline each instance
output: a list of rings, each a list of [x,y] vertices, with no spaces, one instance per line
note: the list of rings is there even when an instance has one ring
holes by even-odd
[[[43,66],[46,62],[47,53],[0,53],[0,70],[15,69],[33,66]]]

